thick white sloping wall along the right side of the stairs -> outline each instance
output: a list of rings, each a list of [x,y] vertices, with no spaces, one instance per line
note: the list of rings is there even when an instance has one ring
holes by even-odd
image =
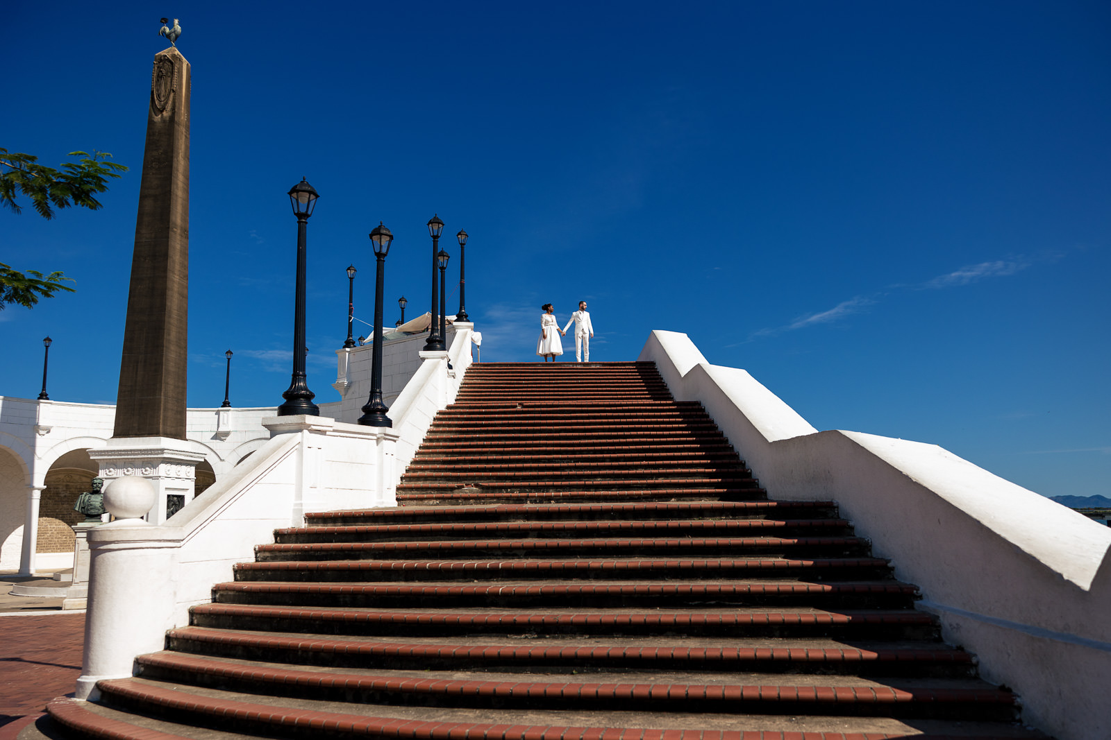
[[[1111,738],[1111,528],[937,445],[818,432],[685,334],[652,332],[640,359],[677,399],[702,403],[770,497],[837,500],[921,588],[944,639],[1018,692],[1027,723]]]

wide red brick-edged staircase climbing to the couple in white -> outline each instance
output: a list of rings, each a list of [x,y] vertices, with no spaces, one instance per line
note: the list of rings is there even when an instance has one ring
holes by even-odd
[[[276,531],[67,737],[1044,738],[650,363],[472,365],[401,506]]]

